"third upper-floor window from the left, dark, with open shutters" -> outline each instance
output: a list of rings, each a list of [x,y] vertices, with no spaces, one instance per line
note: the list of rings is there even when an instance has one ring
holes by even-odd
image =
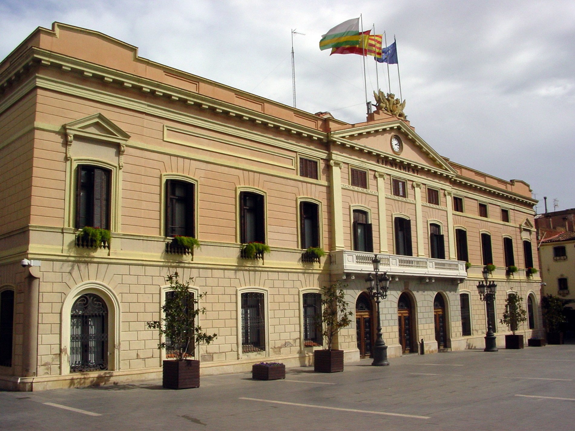
[[[243,244],[266,242],[264,198],[259,193],[240,192],[240,241]]]

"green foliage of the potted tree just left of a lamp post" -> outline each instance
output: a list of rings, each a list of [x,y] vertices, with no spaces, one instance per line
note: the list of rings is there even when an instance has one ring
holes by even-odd
[[[340,282],[324,286],[321,290],[321,315],[316,325],[326,342],[327,350],[332,350],[333,338],[351,323],[352,311],[347,311],[349,304]]]

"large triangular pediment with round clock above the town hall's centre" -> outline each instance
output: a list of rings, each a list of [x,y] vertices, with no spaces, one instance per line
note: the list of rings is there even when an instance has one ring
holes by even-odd
[[[392,121],[370,122],[337,130],[332,132],[331,136],[337,143],[346,147],[356,147],[363,152],[377,153],[402,163],[457,174],[442,156],[415,133],[415,130],[396,118]],[[394,137],[398,138],[399,144],[393,139]],[[398,145],[400,147],[397,151]]]

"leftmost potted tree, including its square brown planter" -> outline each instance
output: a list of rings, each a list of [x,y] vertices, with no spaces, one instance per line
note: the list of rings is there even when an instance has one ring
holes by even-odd
[[[148,329],[158,329],[164,341],[158,344],[159,349],[169,348],[173,359],[163,361],[162,386],[170,389],[200,387],[200,361],[187,359],[193,356],[197,345],[210,344],[217,334],[208,335],[197,325],[197,317],[204,314],[205,307],[200,308],[200,299],[190,292],[190,282],[182,283],[178,272],[168,274],[166,282],[170,284],[170,295],[162,306],[163,317],[160,320],[147,322]]]

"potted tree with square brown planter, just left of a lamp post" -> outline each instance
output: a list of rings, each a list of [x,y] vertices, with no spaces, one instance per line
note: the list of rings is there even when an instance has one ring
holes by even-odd
[[[333,349],[333,338],[351,323],[352,311],[347,311],[348,303],[339,282],[322,289],[321,315],[317,321],[325,341],[325,349],[313,352],[313,371],[343,371],[343,350]]]

